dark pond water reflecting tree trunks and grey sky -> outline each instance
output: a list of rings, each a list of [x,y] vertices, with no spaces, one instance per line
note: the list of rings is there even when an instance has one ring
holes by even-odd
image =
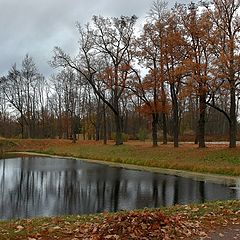
[[[0,219],[86,214],[240,199],[237,186],[79,160],[0,161]]]

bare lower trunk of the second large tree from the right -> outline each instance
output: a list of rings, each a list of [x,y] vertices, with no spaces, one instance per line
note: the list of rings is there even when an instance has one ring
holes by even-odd
[[[199,121],[198,121],[198,146],[205,147],[205,112],[206,112],[206,94],[200,95],[199,103]]]

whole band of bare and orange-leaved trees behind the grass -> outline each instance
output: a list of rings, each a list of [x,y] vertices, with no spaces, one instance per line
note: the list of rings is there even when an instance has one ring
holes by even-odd
[[[151,138],[153,145],[208,136],[236,146],[240,2],[153,2],[136,16],[77,24],[79,53],[54,48],[46,79],[26,55],[0,79],[0,135],[21,138]],[[211,139],[211,140],[214,140]],[[218,140],[216,138],[216,140]]]

